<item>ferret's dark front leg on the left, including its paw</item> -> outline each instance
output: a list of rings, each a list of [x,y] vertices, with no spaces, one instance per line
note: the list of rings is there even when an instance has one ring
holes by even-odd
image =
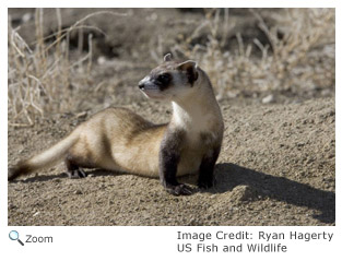
[[[160,178],[166,191],[174,195],[191,194],[190,187],[177,181],[177,167],[180,159],[179,137],[163,140],[160,151]]]

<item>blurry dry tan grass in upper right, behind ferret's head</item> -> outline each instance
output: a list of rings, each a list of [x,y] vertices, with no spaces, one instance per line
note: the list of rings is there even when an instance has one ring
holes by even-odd
[[[334,9],[286,9],[273,14],[269,27],[255,10],[259,27],[271,46],[259,39],[245,45],[237,33],[238,49],[224,50],[229,27],[228,10],[207,10],[205,20],[173,52],[191,57],[209,73],[219,98],[272,91],[325,88],[334,86]],[[190,43],[201,31],[209,32],[208,44]],[[279,37],[279,32],[283,37]],[[257,48],[261,57],[255,55]]]

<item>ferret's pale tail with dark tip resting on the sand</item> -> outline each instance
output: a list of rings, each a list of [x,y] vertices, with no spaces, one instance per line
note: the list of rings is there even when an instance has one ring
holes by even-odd
[[[67,138],[38,155],[35,155],[26,161],[19,162],[15,166],[9,168],[8,180],[13,180],[19,176],[33,173],[60,162],[66,157],[68,151],[76,143],[78,140],[79,133],[78,131],[73,131]]]

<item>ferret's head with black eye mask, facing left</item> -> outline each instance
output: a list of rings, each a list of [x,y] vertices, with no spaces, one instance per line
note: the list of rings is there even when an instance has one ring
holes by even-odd
[[[139,82],[142,93],[153,99],[177,100],[196,92],[199,71],[194,61],[176,62],[170,54]]]

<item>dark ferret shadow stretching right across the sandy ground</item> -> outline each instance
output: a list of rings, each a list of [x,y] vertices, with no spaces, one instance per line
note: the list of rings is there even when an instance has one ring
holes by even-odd
[[[312,188],[285,177],[275,177],[231,163],[215,167],[215,186],[211,193],[232,191],[236,186],[250,187],[258,195],[320,212],[314,217],[331,224],[335,221],[335,193]]]

